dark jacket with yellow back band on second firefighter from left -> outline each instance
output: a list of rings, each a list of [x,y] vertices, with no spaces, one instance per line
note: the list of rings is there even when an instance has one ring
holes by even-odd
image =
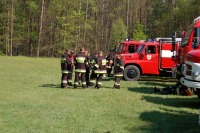
[[[79,52],[78,54],[75,55],[74,65],[75,65],[75,72],[78,73],[86,72],[87,59],[84,53]]]

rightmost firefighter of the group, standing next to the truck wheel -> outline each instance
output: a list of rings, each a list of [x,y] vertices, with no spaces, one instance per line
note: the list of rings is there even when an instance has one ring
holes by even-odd
[[[115,83],[114,83],[113,88],[120,89],[120,80],[123,77],[123,72],[124,72],[124,62],[121,59],[121,56],[117,55],[115,66],[114,66]]]

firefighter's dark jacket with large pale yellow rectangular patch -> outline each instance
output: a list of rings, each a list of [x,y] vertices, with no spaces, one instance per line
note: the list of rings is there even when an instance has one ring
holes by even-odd
[[[99,56],[96,58],[96,64],[94,65],[96,74],[106,74],[106,59],[103,56]]]

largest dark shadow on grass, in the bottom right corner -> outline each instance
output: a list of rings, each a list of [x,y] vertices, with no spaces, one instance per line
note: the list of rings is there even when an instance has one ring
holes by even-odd
[[[145,123],[140,130],[152,133],[200,133],[198,115],[184,111],[164,110],[141,113]],[[135,127],[129,129],[134,131]]]

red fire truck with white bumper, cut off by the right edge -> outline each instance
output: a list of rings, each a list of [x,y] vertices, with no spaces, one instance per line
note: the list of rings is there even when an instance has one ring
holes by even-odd
[[[180,83],[200,98],[200,17],[194,20],[192,28],[184,34],[176,53],[174,77],[178,75]]]

